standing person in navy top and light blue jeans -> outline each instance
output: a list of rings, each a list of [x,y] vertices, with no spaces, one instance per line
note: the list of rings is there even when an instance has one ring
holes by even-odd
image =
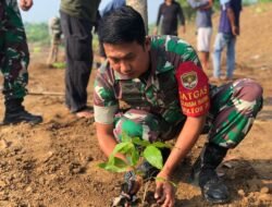
[[[213,52],[213,77],[212,81],[221,78],[221,53],[226,47],[226,76],[225,81],[233,80],[235,70],[235,44],[239,35],[239,15],[242,0],[220,0],[221,16],[219,33],[215,37]]]

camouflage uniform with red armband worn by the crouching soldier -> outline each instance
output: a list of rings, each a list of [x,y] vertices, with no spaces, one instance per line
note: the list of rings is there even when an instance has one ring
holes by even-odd
[[[149,141],[173,138],[186,117],[207,112],[211,143],[232,148],[245,137],[262,105],[257,83],[209,85],[195,50],[175,37],[152,37],[150,58],[151,68],[139,78],[126,78],[109,64],[98,71],[95,119],[113,123],[116,139],[122,132]],[[121,110],[120,100],[128,110]]]

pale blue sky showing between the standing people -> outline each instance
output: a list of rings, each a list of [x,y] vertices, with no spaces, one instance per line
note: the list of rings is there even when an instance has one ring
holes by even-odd
[[[91,0],[90,0],[91,1]],[[101,0],[100,9],[110,0]],[[148,0],[148,22],[154,23],[160,3],[163,0]],[[47,22],[50,17],[59,15],[60,0],[34,0],[33,8],[27,11],[21,11],[24,22]]]

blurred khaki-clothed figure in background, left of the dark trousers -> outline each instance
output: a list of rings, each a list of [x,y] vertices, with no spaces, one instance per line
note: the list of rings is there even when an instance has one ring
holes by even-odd
[[[58,61],[59,46],[61,44],[61,20],[58,16],[53,16],[48,21],[49,34],[51,37],[51,47],[47,59],[47,64],[52,66]]]

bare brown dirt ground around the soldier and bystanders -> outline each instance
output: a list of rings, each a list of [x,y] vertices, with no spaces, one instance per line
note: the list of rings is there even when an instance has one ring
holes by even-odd
[[[230,207],[272,206],[272,4],[245,8],[242,35],[237,40],[235,77],[251,77],[264,88],[264,107],[246,139],[220,168],[231,190]],[[217,33],[218,14],[214,15]],[[185,39],[196,44],[194,24]],[[44,63],[48,49],[32,54],[29,92],[25,106],[44,115],[37,126],[0,126],[0,206],[4,207],[103,207],[119,194],[122,174],[97,167],[104,160],[98,148],[94,121],[70,114],[63,99],[64,70]],[[88,87],[91,105],[92,73]],[[53,95],[35,95],[52,92]],[[3,97],[0,96],[0,117]],[[181,163],[175,173],[178,183],[176,206],[209,206],[197,186],[188,183],[189,169],[205,137]],[[150,184],[152,186],[152,183]],[[149,187],[147,197],[152,195]],[[143,191],[139,197],[143,199]],[[140,206],[151,206],[143,200]],[[153,206],[153,205],[152,205]]]

